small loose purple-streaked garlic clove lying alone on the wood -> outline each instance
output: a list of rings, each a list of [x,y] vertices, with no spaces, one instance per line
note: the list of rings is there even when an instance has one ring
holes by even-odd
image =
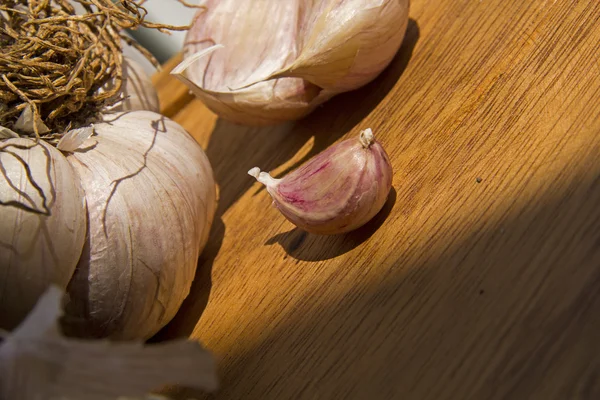
[[[392,166],[371,129],[311,158],[282,179],[255,167],[248,171],[267,187],[275,206],[294,225],[316,234],[357,229],[385,204]]]

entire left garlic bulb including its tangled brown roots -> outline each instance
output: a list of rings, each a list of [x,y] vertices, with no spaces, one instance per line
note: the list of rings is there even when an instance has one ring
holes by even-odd
[[[185,27],[148,22],[134,0],[76,2],[82,15],[64,1],[2,10],[13,57],[0,60],[12,77],[0,80],[0,326],[56,283],[69,333],[146,339],[189,292],[216,187],[181,126],[132,111],[157,109],[156,92],[118,43],[131,42],[126,28]],[[68,57],[53,56],[66,45]]]

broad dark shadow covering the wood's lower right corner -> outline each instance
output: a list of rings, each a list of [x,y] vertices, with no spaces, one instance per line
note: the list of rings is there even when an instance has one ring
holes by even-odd
[[[396,265],[329,269],[332,284],[316,285],[282,309],[285,324],[273,321],[252,346],[221,355],[220,392],[194,394],[600,398],[600,169],[594,165],[587,177],[513,207],[502,225],[482,220],[460,239],[432,237],[418,250],[390,255],[402,260]],[[405,240],[401,232],[398,240]],[[368,269],[378,272],[366,282]],[[356,286],[333,283],[342,279]],[[192,392],[175,398],[184,394]]]

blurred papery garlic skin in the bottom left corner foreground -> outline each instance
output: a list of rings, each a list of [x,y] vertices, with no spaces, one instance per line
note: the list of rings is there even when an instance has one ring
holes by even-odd
[[[50,286],[23,323],[2,332],[0,399],[166,400],[148,395],[178,384],[214,391],[212,355],[195,340],[144,344],[63,335],[64,290]]]

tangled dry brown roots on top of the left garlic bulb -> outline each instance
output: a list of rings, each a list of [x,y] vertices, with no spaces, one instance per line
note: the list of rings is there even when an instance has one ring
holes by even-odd
[[[123,30],[189,28],[146,21],[143,0],[74,2],[85,10],[83,14],[77,14],[68,0],[2,1],[0,126],[13,129],[28,106],[34,119],[53,132],[89,123],[103,108],[122,100],[123,41],[158,66]],[[37,127],[35,135],[40,137]]]

